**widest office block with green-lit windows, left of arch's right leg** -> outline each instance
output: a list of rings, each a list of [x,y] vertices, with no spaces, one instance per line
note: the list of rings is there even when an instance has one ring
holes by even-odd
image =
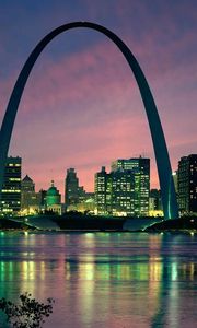
[[[95,207],[99,214],[146,216],[149,213],[150,160],[129,159],[112,163],[95,174]]]

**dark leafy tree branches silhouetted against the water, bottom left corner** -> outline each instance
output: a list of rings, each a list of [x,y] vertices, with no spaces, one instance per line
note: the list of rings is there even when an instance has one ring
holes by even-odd
[[[4,297],[0,298],[0,309],[7,316],[7,323],[13,328],[39,328],[45,323],[44,317],[53,313],[54,298],[47,298],[47,303],[39,303],[32,295],[20,295],[20,303],[12,303]]]

